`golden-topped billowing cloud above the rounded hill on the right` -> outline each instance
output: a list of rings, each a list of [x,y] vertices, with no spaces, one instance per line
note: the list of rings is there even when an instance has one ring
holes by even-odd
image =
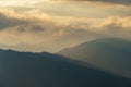
[[[112,37],[130,38],[131,34],[131,16],[118,17],[111,16],[100,23],[91,26],[96,32],[102,32],[105,35]]]

